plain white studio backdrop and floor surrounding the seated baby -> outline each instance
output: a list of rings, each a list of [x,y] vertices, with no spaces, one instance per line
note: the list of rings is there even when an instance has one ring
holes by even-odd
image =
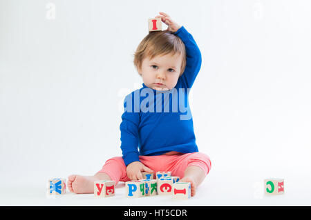
[[[121,156],[120,107],[142,85],[133,53],[162,11],[202,52],[190,105],[213,167],[182,204],[310,206],[310,8],[307,0],[0,0],[0,205],[175,204],[124,200],[122,185],[106,203],[45,194],[49,178],[93,175]],[[285,179],[285,194],[263,195],[270,177]]]

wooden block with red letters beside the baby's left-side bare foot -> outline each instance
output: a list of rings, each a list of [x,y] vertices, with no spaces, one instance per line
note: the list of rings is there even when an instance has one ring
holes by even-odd
[[[94,196],[96,198],[113,197],[115,195],[115,181],[94,181]]]

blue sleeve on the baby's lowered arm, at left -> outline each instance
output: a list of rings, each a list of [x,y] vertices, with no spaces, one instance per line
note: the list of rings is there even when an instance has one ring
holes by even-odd
[[[140,161],[138,152],[139,113],[133,110],[133,106],[126,106],[129,104],[133,105],[132,94],[129,94],[124,99],[124,113],[122,114],[122,122],[120,124],[121,150],[125,166],[134,161]]]

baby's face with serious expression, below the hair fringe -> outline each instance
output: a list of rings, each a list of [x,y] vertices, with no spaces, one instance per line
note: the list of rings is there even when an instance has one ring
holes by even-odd
[[[171,90],[176,86],[182,66],[181,54],[166,54],[142,61],[138,72],[144,85],[154,90]]]

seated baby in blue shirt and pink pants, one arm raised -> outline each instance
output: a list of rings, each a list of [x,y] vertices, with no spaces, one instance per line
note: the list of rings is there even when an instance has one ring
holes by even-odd
[[[135,68],[143,83],[124,99],[123,156],[108,159],[94,176],[70,175],[70,192],[93,193],[95,180],[117,184],[142,179],[141,172],[171,171],[180,181],[191,183],[194,196],[211,169],[209,157],[198,152],[188,103],[201,66],[200,50],[185,27],[168,14],[160,12],[156,18],[168,28],[149,32],[135,52]]]

